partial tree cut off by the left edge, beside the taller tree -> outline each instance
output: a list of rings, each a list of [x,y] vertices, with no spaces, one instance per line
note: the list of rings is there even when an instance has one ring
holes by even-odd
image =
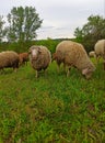
[[[7,34],[7,29],[3,26],[4,25],[4,20],[3,16],[0,15],[0,43],[3,41],[5,34]]]

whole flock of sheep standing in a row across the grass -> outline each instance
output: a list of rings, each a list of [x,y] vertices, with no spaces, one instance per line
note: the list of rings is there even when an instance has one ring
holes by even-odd
[[[52,61],[56,61],[58,67],[63,63],[63,69],[69,76],[70,68],[78,68],[86,79],[90,79],[95,70],[94,64],[91,62],[90,56],[94,56],[97,59],[103,57],[103,64],[105,69],[105,40],[100,40],[94,46],[94,52],[86,54],[82,44],[72,41],[62,41],[57,47],[56,52],[51,54],[45,46],[33,45],[30,47],[28,53],[18,54],[13,51],[7,51],[0,53],[0,69],[7,67],[13,67],[14,70],[20,65],[25,64],[28,61],[31,66],[36,70],[36,77],[38,72],[46,69]],[[67,68],[67,69],[66,69]]]

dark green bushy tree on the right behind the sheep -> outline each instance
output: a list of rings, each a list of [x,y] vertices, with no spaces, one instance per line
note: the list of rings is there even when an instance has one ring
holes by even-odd
[[[75,29],[74,36],[88,51],[93,50],[97,40],[105,38],[105,19],[100,15],[89,16],[82,29]]]

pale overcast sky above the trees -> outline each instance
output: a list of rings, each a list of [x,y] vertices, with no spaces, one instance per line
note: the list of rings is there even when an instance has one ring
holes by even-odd
[[[13,7],[35,7],[42,28],[37,40],[71,38],[77,28],[88,23],[90,15],[105,18],[105,0],[2,0],[0,15],[7,16]]]

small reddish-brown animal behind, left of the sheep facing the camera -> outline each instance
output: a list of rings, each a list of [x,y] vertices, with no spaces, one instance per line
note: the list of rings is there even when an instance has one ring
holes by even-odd
[[[20,53],[20,65],[25,65],[28,62],[28,53]]]

